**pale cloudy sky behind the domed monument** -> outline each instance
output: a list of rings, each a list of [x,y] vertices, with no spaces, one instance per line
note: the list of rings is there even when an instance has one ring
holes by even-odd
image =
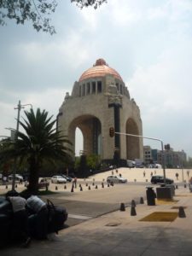
[[[103,58],[137,102],[143,136],[192,157],[192,1],[108,0],[96,10],[57,2],[53,36],[30,22],[0,26],[0,136],[16,128],[19,100],[55,119],[66,92]],[[152,140],[143,144],[160,149]]]

